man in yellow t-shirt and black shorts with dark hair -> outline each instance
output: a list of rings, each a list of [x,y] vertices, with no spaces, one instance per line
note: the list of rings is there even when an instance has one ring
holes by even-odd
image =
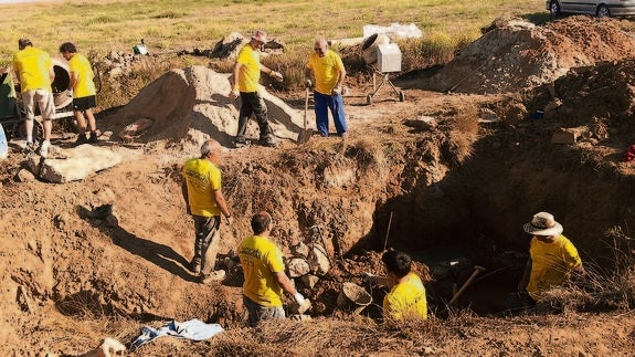
[[[64,60],[68,61],[68,72],[71,72],[68,90],[73,91],[73,114],[77,119],[77,130],[80,132],[75,145],[97,143],[97,125],[93,115],[93,108],[97,106],[97,91],[95,82],[93,82],[95,77],[93,66],[88,59],[77,53],[77,48],[71,42],[62,43],[60,53]],[[86,138],[86,122],[91,128],[88,138]]]

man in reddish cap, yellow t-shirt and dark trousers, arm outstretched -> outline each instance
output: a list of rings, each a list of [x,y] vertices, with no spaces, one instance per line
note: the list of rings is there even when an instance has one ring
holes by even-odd
[[[236,147],[248,145],[245,138],[245,130],[252,114],[256,117],[261,130],[258,143],[263,146],[277,146],[267,119],[267,106],[260,94],[260,80],[261,72],[268,74],[278,82],[283,82],[283,75],[261,63],[258,51],[266,42],[267,34],[264,31],[256,31],[250,43],[245,44],[239,52],[233,69],[233,76],[230,78],[232,85],[230,97],[232,99],[237,98],[239,95],[241,97],[239,132],[234,139]]]

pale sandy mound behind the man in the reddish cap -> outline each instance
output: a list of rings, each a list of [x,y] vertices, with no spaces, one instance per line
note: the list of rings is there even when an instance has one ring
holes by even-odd
[[[117,134],[130,123],[149,118],[152,125],[139,143],[156,140],[186,141],[199,145],[212,137],[230,147],[237,130],[240,102],[229,98],[227,75],[204,66],[172,70],[146,86],[128,105],[104,118],[104,129]],[[301,126],[301,115],[262,87],[269,124],[279,138],[294,140]],[[257,138],[255,120],[247,126],[247,137]]]

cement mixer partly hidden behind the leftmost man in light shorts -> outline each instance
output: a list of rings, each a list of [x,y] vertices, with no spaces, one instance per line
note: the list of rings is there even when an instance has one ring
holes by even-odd
[[[52,83],[53,102],[55,103],[55,115],[53,119],[73,117],[73,94],[68,91],[71,73],[68,64],[62,60],[53,59],[53,71],[55,80]],[[35,113],[33,123],[33,138],[41,140],[44,136],[42,117]],[[25,111],[20,93],[15,92],[13,81],[9,73],[0,75],[0,124],[8,138],[27,137],[27,125],[24,124]]]

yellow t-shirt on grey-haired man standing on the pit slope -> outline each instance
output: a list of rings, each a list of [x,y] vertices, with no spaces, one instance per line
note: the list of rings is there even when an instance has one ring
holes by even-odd
[[[221,189],[221,170],[210,160],[190,159],[183,166],[183,178],[188,185],[188,203],[192,214],[220,216],[213,191]]]

